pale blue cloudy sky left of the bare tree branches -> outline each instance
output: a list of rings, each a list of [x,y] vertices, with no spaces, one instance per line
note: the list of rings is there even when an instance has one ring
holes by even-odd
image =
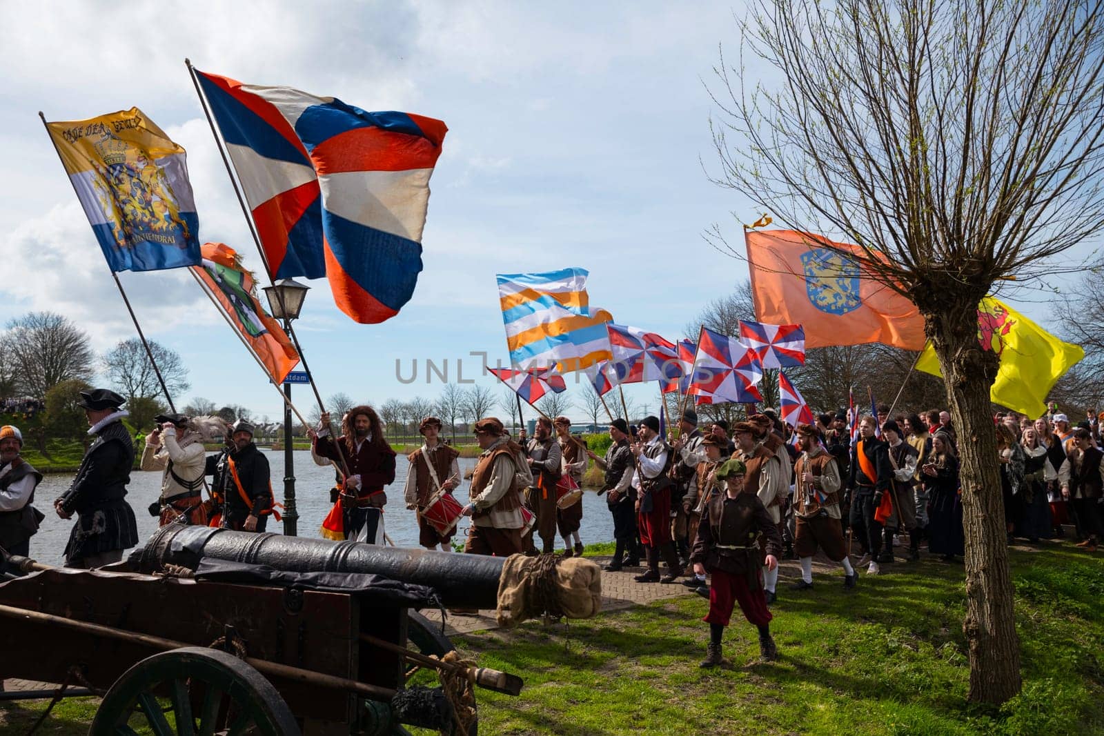
[[[436,396],[426,360],[447,360],[454,381],[463,361],[465,380],[493,385],[471,353],[507,356],[496,273],[586,268],[592,305],[671,340],[746,278],[702,239],[716,223],[739,243],[739,221],[758,214],[707,177],[716,169],[707,85],[719,45],[730,57],[737,45],[724,3],[4,3],[0,26],[0,321],[61,312],[99,351],[135,334],[38,110],[73,120],[140,107],[188,150],[201,239],[230,244],[262,271],[185,56],[243,82],[449,128],[412,301],[361,326],[335,308],[325,280],[311,282],[296,324],[323,396]],[[120,279],[147,335],[190,367],[178,406],[202,396],[280,413],[190,277]],[[399,381],[396,364],[408,380],[414,361],[417,380]],[[651,387],[630,393],[658,404]]]

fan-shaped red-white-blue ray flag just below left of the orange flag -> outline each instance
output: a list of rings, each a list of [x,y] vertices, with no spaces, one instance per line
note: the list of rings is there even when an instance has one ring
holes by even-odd
[[[763,367],[755,353],[739,340],[702,328],[687,393],[696,404],[754,404],[763,401],[755,387]]]

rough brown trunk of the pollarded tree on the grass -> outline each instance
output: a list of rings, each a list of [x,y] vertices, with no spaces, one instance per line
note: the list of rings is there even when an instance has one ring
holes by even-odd
[[[963,531],[966,540],[966,620],[969,700],[1000,704],[1020,691],[1020,644],[1012,611],[1012,583],[1004,498],[997,462],[989,388],[999,356],[977,334],[980,298],[969,295],[924,314],[940,358],[958,435]]]

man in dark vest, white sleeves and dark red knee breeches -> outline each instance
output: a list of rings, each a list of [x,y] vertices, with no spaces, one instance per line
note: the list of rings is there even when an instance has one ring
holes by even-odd
[[[636,459],[633,488],[636,489],[636,523],[640,543],[648,557],[648,569],[637,575],[637,583],[675,583],[682,573],[671,542],[671,447],[659,435],[659,419],[646,416],[637,430],[637,441],[629,446]],[[659,576],[659,557],[667,563],[667,575]]]

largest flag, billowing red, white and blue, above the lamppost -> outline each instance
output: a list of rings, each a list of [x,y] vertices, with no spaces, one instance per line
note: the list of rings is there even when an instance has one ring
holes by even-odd
[[[445,124],[194,72],[270,276],[326,276],[337,306],[358,322],[397,314],[422,270]]]

